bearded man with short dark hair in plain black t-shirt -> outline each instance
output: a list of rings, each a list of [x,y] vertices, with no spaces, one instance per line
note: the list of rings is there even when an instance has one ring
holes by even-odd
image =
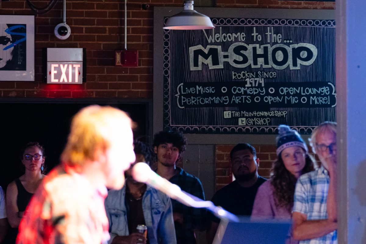
[[[235,180],[215,193],[212,202],[236,215],[251,215],[255,194],[266,181],[258,175],[259,158],[255,148],[248,143],[239,143],[230,152],[231,170]],[[212,243],[220,219],[210,214],[206,239]]]

